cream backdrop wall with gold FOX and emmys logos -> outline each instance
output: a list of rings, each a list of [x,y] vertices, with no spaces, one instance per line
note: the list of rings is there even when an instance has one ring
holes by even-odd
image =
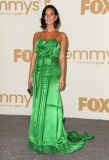
[[[0,0],[0,113],[31,114],[32,40],[48,4],[68,37],[64,116],[109,120],[109,0]]]

